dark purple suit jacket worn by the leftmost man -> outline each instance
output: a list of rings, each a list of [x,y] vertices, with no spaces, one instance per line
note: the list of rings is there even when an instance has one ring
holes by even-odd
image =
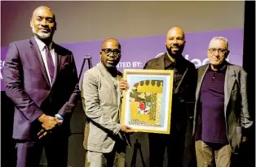
[[[14,139],[32,139],[42,126],[33,126],[42,113],[64,116],[62,128],[69,132],[69,120],[80,96],[73,54],[53,44],[56,53],[52,87],[38,45],[33,38],[9,45],[3,69],[7,96],[15,105]],[[37,125],[40,125],[38,123]]]

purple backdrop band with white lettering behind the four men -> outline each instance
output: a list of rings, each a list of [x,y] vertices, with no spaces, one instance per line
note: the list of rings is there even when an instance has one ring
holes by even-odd
[[[243,60],[243,29],[231,29],[214,32],[194,32],[186,33],[186,46],[183,56],[193,62],[196,67],[208,63],[207,48],[210,39],[214,36],[225,36],[229,41],[230,54],[227,58],[228,62],[242,66]],[[121,43],[121,61],[117,65],[120,71],[125,68],[143,68],[145,62],[149,59],[157,57],[159,54],[166,52],[166,36],[147,36],[139,38],[119,39]],[[86,54],[92,58],[92,65],[95,66],[99,62],[99,51],[103,41],[87,41],[77,43],[60,44],[73,52],[77,64],[77,72],[79,74],[82,67],[82,61]],[[1,90],[4,91],[2,82],[2,67],[6,57],[7,47],[1,48]],[[83,71],[88,69],[87,62]]]

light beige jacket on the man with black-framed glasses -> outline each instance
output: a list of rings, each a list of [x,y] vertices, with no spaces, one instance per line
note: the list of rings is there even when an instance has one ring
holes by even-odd
[[[121,79],[118,71],[117,78]],[[102,63],[86,71],[82,80],[82,105],[86,112],[84,148],[112,152],[121,139],[121,90]]]

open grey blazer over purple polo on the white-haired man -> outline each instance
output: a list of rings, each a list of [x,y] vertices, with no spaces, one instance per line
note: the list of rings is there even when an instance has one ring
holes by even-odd
[[[196,102],[194,109],[193,135],[196,130],[198,118],[201,84],[209,65],[197,69],[198,82],[196,88]],[[241,66],[227,63],[224,86],[224,116],[226,121],[227,139],[236,153],[240,147],[245,129],[252,126],[247,101],[247,74]]]

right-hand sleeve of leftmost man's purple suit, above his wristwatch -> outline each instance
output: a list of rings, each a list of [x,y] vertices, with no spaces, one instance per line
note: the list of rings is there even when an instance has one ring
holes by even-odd
[[[71,54],[71,65],[72,65],[72,71],[73,71],[73,75],[71,79],[73,80],[74,82],[73,85],[75,86],[73,87],[73,92],[71,93],[68,101],[62,106],[62,108],[58,112],[62,116],[65,116],[66,113],[73,113],[73,109],[77,105],[78,98],[80,97],[80,90],[78,86],[79,81],[77,77],[77,67],[76,67],[75,60],[73,58],[73,54]]]

